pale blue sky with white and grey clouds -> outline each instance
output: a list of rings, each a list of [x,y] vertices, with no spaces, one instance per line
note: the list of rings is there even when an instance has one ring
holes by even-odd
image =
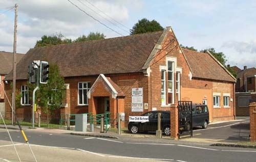
[[[254,0],[70,1],[116,32],[68,0],[0,0],[0,51],[13,51],[14,9],[5,11],[17,3],[17,52],[20,53],[33,48],[43,35],[61,33],[75,39],[100,32],[106,38],[126,36],[139,19],[147,18],[155,19],[163,27],[172,26],[182,45],[199,50],[214,47],[225,53],[226,64],[256,67]]]

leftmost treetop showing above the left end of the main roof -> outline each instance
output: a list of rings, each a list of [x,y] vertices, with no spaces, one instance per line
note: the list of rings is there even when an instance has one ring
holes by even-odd
[[[71,39],[65,38],[61,33],[51,36],[42,36],[41,40],[36,41],[35,47],[44,47],[57,44],[71,43]]]

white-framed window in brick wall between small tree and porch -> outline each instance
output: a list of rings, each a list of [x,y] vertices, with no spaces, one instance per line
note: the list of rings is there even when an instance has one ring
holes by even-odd
[[[78,82],[78,105],[87,105],[87,92],[91,88],[90,82]]]

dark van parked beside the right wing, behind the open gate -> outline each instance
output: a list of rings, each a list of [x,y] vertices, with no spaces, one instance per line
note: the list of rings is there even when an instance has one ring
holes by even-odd
[[[192,106],[193,127],[202,126],[204,129],[209,124],[209,110],[206,104],[193,104]]]

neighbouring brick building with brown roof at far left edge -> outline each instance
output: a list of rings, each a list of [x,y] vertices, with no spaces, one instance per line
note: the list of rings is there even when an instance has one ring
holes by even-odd
[[[25,55],[16,54],[16,62],[19,62]],[[12,70],[13,53],[0,51],[0,102],[4,102],[4,78]]]

